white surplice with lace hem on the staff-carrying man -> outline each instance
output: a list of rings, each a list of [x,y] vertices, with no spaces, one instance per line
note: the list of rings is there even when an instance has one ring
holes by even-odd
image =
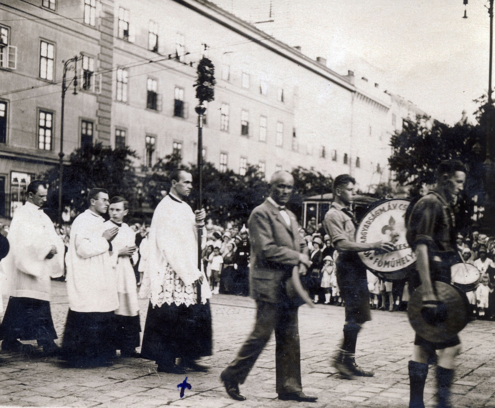
[[[201,303],[211,298],[204,272],[198,269],[196,217],[189,204],[168,195],[156,206],[148,235],[148,256],[139,295],[153,306],[195,305],[203,277]]]

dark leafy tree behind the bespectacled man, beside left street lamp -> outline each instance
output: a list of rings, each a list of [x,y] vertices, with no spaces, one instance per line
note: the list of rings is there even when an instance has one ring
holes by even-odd
[[[76,214],[87,208],[86,197],[90,189],[100,187],[108,195],[123,196],[131,206],[136,206],[138,179],[132,159],[137,158],[128,147],[113,149],[101,143],[76,149],[70,155],[70,165],[64,166],[62,206],[69,206]],[[58,207],[58,167],[53,167],[42,177],[50,185],[47,206]]]

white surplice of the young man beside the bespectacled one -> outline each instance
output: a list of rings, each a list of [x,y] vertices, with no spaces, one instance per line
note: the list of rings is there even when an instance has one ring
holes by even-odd
[[[129,256],[118,256],[119,250],[136,245],[136,233],[123,222],[120,226],[108,220],[104,223],[106,229],[118,226],[119,232],[112,240],[113,256],[117,256],[115,273],[117,278],[117,293],[119,296],[119,308],[115,314],[121,316],[137,316],[139,314],[138,292],[136,291],[136,275],[131,265]],[[139,254],[136,250],[132,255],[134,264],[138,261]]]

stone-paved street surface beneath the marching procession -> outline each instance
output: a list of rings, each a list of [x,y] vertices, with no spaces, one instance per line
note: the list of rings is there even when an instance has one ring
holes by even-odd
[[[59,337],[67,314],[65,284],[53,282],[51,304]],[[6,299],[4,298],[6,306]],[[141,301],[142,327],[147,302]],[[254,321],[250,299],[218,295],[211,302],[214,354],[202,364],[207,374],[189,372],[192,390],[180,399],[177,384],[185,376],[157,373],[153,361],[116,358],[111,367],[67,368],[56,358],[2,353],[0,355],[0,405],[15,407],[407,407],[407,362],[413,331],[404,312],[372,311],[373,320],[359,334],[357,361],[375,371],[372,378],[344,380],[330,367],[342,336],[344,308],[318,305],[299,309],[301,370],[304,391],[318,395],[316,403],[277,400],[275,394],[275,341],[269,342],[241,386],[247,401],[230,399],[219,381],[222,369],[235,357]],[[495,324],[470,323],[460,334],[463,351],[458,358],[453,402],[455,407],[495,407]],[[60,339],[57,340],[59,342]],[[36,345],[36,342],[31,342]],[[40,350],[38,348],[37,350]],[[434,405],[435,372],[425,389],[427,407]]]

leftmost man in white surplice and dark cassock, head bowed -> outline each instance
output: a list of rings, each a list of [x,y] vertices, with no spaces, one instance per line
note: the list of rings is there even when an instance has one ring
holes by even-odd
[[[26,204],[12,217],[8,241],[10,252],[1,266],[6,280],[4,287],[10,298],[0,328],[1,349],[32,352],[31,345],[17,339],[37,340],[45,355],[58,347],[50,312],[50,277],[63,275],[65,247],[55,232],[53,222],[40,208],[47,201],[46,183],[34,180],[26,191]]]

